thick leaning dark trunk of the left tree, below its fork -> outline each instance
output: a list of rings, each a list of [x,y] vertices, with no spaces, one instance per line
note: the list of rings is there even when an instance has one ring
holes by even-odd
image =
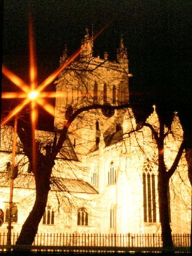
[[[52,167],[51,167],[52,169]],[[20,235],[15,245],[30,245],[33,244],[35,236],[38,231],[38,225],[41,222],[43,214],[45,212],[47,198],[50,190],[50,166],[47,169],[39,169],[37,175],[35,175],[36,182],[36,197],[33,209],[28,215],[25,223],[22,226]],[[19,251],[20,248],[15,247],[14,251]],[[23,248],[25,250],[25,247]],[[26,251],[26,250],[25,250]]]

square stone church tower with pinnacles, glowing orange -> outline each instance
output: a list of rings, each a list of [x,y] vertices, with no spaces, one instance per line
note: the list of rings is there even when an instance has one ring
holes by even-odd
[[[67,59],[67,49],[60,62]],[[82,40],[81,55],[62,71],[56,82],[56,92],[61,94],[55,102],[55,129],[60,130],[75,110],[91,106],[122,105],[129,102],[129,62],[121,36],[117,60],[109,61],[108,53],[94,57],[89,31]],[[62,63],[61,63],[62,65]],[[90,110],[76,118],[69,129],[77,153],[88,153],[99,147],[100,135],[107,145],[112,134],[122,130],[123,110]]]

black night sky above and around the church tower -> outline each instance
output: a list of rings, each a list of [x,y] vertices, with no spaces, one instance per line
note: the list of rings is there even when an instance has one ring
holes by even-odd
[[[94,52],[114,60],[121,34],[129,56],[131,100],[191,108],[191,2],[111,0],[4,0],[3,63],[28,81],[28,10],[36,38],[38,82],[59,66],[65,43],[69,54],[81,45],[85,28],[97,33]],[[30,3],[30,4],[29,4]],[[17,90],[3,77],[3,91]],[[47,90],[54,90],[50,85]],[[15,100],[14,100],[15,102]],[[14,103],[2,101],[2,108]],[[46,114],[42,111],[43,115]]]

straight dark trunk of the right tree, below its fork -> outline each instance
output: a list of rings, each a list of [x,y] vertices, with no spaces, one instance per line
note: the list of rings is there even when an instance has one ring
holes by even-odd
[[[162,228],[163,247],[171,249],[173,241],[171,236],[170,218],[169,218],[169,201],[167,191],[169,187],[169,178],[166,172],[158,174],[158,199],[159,199],[159,218]]]

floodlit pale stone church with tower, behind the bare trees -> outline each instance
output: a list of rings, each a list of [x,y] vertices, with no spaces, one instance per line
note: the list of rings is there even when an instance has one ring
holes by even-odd
[[[129,103],[129,61],[121,37],[116,61],[108,53],[94,56],[89,32],[82,40],[81,55],[61,72],[56,84],[54,126],[58,136],[74,111],[89,109],[69,127],[68,138],[55,161],[46,212],[39,233],[161,233],[157,191],[157,146],[148,127],[136,129],[131,108],[110,110]],[[67,48],[60,65],[68,61]],[[147,122],[158,130],[155,111]],[[6,164],[11,162],[11,127],[1,130],[0,209],[4,211],[1,232],[7,231],[10,180]],[[53,133],[36,131],[45,150]],[[172,133],[165,139],[165,164],[173,163],[182,141],[182,128],[175,114]],[[10,143],[9,143],[10,142]],[[13,202],[17,218],[12,231],[19,233],[33,207],[35,183],[27,158],[17,138],[19,173],[14,180]],[[22,167],[21,167],[22,166]],[[190,233],[191,188],[184,154],[170,180],[169,209],[173,233]]]

